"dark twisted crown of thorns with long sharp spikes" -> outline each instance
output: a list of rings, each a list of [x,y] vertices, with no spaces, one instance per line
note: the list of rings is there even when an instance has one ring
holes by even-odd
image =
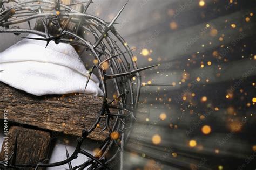
[[[142,86],[139,72],[157,65],[138,68],[136,61],[132,59],[133,49],[130,49],[129,45],[114,29],[113,25],[116,24],[115,22],[127,2],[109,23],[97,16],[86,13],[91,3],[92,0],[79,1],[72,4],[62,4],[59,0],[0,1],[0,26],[2,27],[0,28],[0,33],[14,33],[16,35],[21,33],[37,34],[44,38],[30,39],[46,41],[46,47],[50,41],[54,41],[56,44],[62,42],[83,47],[97,60],[89,71],[89,79],[93,70],[97,69],[104,93],[102,109],[97,115],[96,122],[93,123],[90,129],[82,131],[82,136],[78,137],[76,149],[71,155],[66,151],[66,160],[55,163],[42,161],[36,164],[16,164],[16,139],[16,147],[9,158],[12,161],[8,161],[10,168],[33,167],[38,169],[39,167],[55,167],[68,164],[69,169],[107,169],[110,162],[119,154],[121,155],[122,164],[123,148],[127,139],[129,139],[132,126],[136,121],[134,110],[137,108],[140,87]],[[80,11],[73,8],[73,6],[78,4],[82,5],[82,10]],[[35,19],[42,23],[41,27],[43,29],[39,29],[37,26],[31,28],[32,20]],[[25,24],[26,28],[12,26],[19,23],[27,23]],[[71,23],[75,24],[72,29],[70,29]],[[81,34],[84,31],[93,38],[90,40],[85,38],[86,36]],[[104,69],[103,63],[107,63],[109,69]],[[135,77],[135,79],[132,80],[132,77]],[[87,79],[86,86],[89,79]],[[114,89],[118,94],[118,97],[112,101],[107,100],[107,81],[113,82]],[[143,84],[143,86],[146,85],[145,83]],[[150,86],[161,86],[161,84],[150,84]],[[115,100],[117,101],[116,105],[113,104]],[[110,108],[114,111],[110,111]],[[96,128],[103,117],[105,118],[105,126],[102,131],[109,131],[109,136],[106,137],[104,143],[99,147],[98,153],[91,155],[83,150],[81,146],[85,138]],[[110,118],[114,119],[112,124],[110,123]],[[113,132],[120,134],[118,137],[119,141],[121,141],[120,143],[117,142],[117,138],[112,137]],[[106,159],[105,155],[112,145],[115,148],[115,152],[112,154],[112,157]],[[71,161],[78,157],[78,153],[86,155],[89,159],[81,162],[80,165],[72,167]],[[3,165],[4,162],[0,162],[0,164]]]

